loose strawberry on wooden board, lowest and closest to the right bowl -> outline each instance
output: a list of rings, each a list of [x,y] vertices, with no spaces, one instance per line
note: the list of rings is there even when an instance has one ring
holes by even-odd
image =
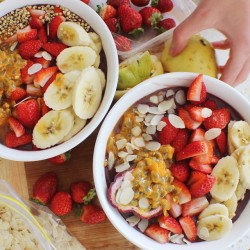
[[[86,224],[97,224],[103,222],[106,215],[101,207],[95,204],[89,204],[82,207],[80,220]]]

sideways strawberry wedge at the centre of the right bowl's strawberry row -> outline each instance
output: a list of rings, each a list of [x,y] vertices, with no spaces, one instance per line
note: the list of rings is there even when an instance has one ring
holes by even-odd
[[[187,144],[183,150],[176,154],[176,160],[181,161],[194,156],[208,153],[208,143],[206,141],[193,141]]]

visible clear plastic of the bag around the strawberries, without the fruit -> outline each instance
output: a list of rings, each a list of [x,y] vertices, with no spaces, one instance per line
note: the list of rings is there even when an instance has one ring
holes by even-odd
[[[180,24],[186,17],[188,17],[196,7],[196,4],[192,0],[172,0],[174,4],[174,8],[170,12],[166,12],[163,14],[164,18],[173,18],[176,22],[176,26]],[[96,10],[97,5],[105,4],[106,0],[93,0],[91,1],[91,7]],[[141,8],[132,7],[136,10],[140,10]],[[168,40],[173,33],[174,28],[168,30],[162,34],[157,34],[156,31],[152,29],[145,30],[144,33],[138,39],[131,39],[132,49],[127,52],[119,51],[118,55],[121,58],[131,57],[137,52],[145,51],[148,49],[152,49],[154,46],[163,43]],[[116,34],[113,34],[115,36]]]

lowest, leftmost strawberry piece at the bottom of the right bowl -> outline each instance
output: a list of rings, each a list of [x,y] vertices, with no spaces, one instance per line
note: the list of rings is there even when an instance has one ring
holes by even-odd
[[[165,228],[160,227],[158,224],[151,224],[146,230],[145,234],[150,238],[156,240],[159,243],[167,243],[168,242],[168,234],[169,231]]]

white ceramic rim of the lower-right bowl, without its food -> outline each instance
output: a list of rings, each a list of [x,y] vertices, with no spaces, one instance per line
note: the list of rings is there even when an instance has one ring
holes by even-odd
[[[192,243],[191,245],[177,245],[172,243],[160,244],[150,239],[144,234],[138,232],[136,229],[128,225],[121,214],[114,208],[107,199],[107,184],[104,170],[104,159],[106,143],[114,126],[118,122],[122,114],[135,102],[142,97],[147,96],[157,90],[163,88],[171,88],[178,86],[188,86],[191,81],[197,76],[194,73],[169,73],[154,78],[148,79],[143,83],[131,89],[128,94],[124,95],[111,109],[106,116],[100,132],[98,134],[95,150],[94,150],[94,181],[97,190],[97,195],[101,205],[107,214],[111,223],[115,228],[130,242],[140,247],[141,249],[150,250],[215,250],[225,249],[233,243],[237,242],[250,228],[249,213],[250,203],[247,204],[244,211],[241,213],[238,220],[233,224],[233,229],[224,238],[210,242]],[[204,76],[204,82],[208,93],[211,93],[226,103],[230,104],[239,114],[248,122],[250,122],[250,103],[237,90],[229,85]],[[170,245],[171,244],[171,245]]]

